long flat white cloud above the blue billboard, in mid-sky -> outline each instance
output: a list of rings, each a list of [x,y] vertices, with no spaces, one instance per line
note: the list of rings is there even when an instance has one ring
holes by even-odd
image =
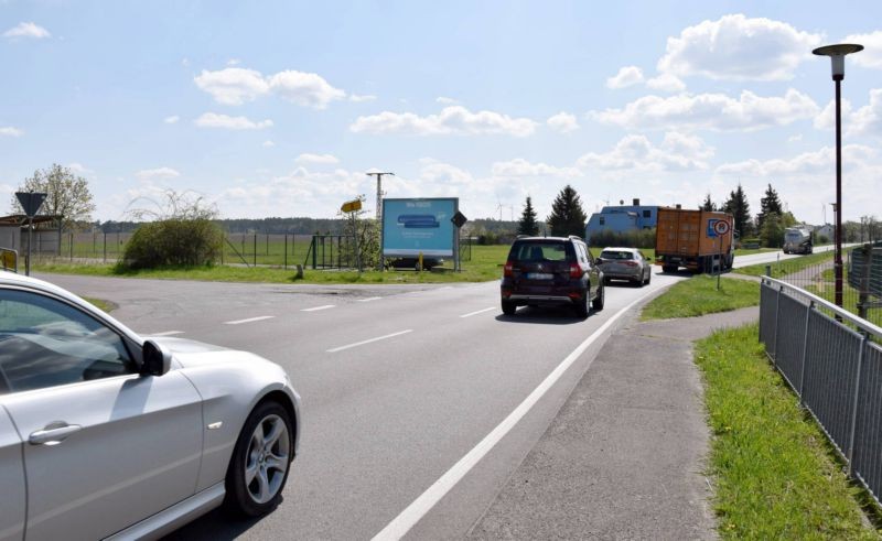
[[[383,111],[379,115],[358,117],[349,126],[356,133],[398,133],[411,136],[531,136],[537,122],[528,118],[512,118],[494,111],[471,112],[464,107],[445,107],[439,115],[420,117],[412,112]]]

